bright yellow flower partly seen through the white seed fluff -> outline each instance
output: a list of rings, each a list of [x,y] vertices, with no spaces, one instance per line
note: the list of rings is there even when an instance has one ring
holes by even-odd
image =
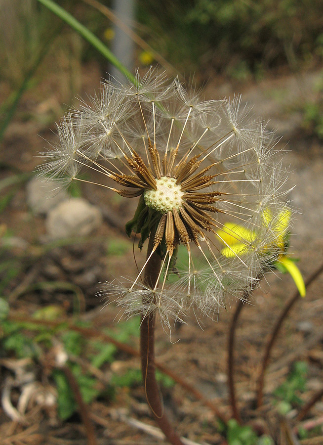
[[[294,280],[300,296],[305,297],[306,289],[302,274],[286,252],[286,237],[290,216],[290,210],[282,210],[278,218],[274,219],[271,210],[265,210],[263,213],[263,222],[264,225],[270,228],[275,234],[275,241],[274,246],[272,244],[265,245],[262,250],[263,253],[266,254],[266,252],[272,251],[273,247],[275,248],[277,258],[275,259],[274,267],[283,273],[288,272]],[[223,229],[219,230],[217,234],[219,239],[226,245],[221,251],[222,255],[226,258],[232,258],[237,255],[241,256],[247,253],[253,241],[256,239],[256,233],[253,230],[234,223],[226,223]]]

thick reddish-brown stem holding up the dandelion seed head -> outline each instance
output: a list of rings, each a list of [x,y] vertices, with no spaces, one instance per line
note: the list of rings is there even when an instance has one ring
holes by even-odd
[[[153,250],[153,233],[150,234],[147,258]],[[145,283],[154,288],[161,267],[161,258],[156,252],[152,255],[145,267]],[[154,418],[167,440],[173,445],[183,445],[179,436],[174,432],[163,409],[161,393],[155,377],[154,353],[155,314],[151,313],[141,320],[140,327],[140,354],[142,375],[145,386],[147,402],[153,412]]]

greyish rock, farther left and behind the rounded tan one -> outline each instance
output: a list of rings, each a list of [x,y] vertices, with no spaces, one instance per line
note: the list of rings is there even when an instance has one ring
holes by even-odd
[[[45,215],[61,201],[68,198],[65,190],[50,179],[33,178],[27,184],[27,203],[36,215]]]

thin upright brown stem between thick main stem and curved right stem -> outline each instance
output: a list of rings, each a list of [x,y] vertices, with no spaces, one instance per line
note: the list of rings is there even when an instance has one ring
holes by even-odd
[[[229,385],[229,397],[230,404],[232,409],[232,415],[237,420],[237,422],[241,423],[241,417],[237,406],[237,398],[236,398],[236,388],[234,381],[234,372],[235,372],[235,362],[234,362],[234,348],[235,348],[235,333],[237,327],[237,321],[240,315],[240,312],[243,308],[244,300],[239,300],[236,306],[236,310],[233,314],[230,329],[229,329],[229,338],[228,338],[228,385]]]

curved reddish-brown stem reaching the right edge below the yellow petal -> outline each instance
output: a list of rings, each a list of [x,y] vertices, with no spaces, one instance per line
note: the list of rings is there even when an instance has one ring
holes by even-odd
[[[323,272],[323,264],[306,280],[305,287],[307,288],[310,286],[313,281],[315,281],[320,274]],[[265,373],[269,364],[269,359],[271,355],[271,351],[273,349],[273,346],[277,340],[278,334],[282,328],[283,321],[287,317],[289,311],[294,306],[294,304],[298,301],[300,298],[300,294],[298,291],[295,292],[295,294],[292,296],[292,298],[289,300],[289,302],[286,304],[285,308],[283,309],[283,312],[281,313],[279,319],[277,320],[274,329],[272,330],[272,333],[269,337],[269,342],[266,345],[266,350],[264,354],[264,358],[262,360],[262,366],[261,371],[259,374],[259,378],[257,381],[257,407],[259,408],[262,405],[263,402],[263,390],[264,390],[264,382],[265,382]]]

